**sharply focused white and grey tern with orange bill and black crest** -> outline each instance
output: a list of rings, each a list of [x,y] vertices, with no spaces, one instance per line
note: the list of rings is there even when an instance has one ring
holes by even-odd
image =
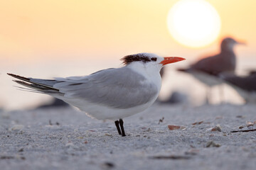
[[[98,120],[114,120],[125,136],[123,118],[149,108],[161,89],[160,69],[181,57],[139,53],[123,57],[124,67],[103,69],[85,77],[33,79],[9,74],[28,91],[48,94],[80,108]]]

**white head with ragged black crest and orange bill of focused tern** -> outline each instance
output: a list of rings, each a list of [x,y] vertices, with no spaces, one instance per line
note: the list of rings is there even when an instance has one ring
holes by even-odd
[[[139,53],[135,55],[127,55],[123,57],[122,62],[124,65],[139,64],[145,68],[158,69],[160,72],[161,67],[166,64],[179,62],[185,60],[182,57],[160,57],[152,53]]]

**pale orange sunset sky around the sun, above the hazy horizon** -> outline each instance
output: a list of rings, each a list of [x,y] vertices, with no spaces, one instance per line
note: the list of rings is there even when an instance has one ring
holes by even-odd
[[[196,57],[217,50],[179,45],[167,30],[166,16],[176,1],[3,1],[0,2],[0,58],[38,60],[117,57],[134,52]],[[222,20],[220,37],[247,40],[242,55],[256,54],[256,2],[212,0]],[[192,55],[191,55],[192,54]]]

